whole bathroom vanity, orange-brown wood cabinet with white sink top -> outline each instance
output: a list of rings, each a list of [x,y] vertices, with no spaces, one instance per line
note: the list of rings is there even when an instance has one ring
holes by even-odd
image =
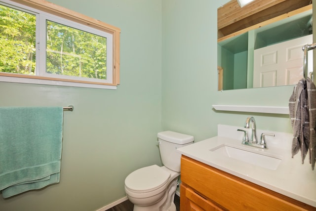
[[[178,149],[181,211],[316,211],[316,172],[308,157],[291,158],[291,134],[274,132],[268,149],[256,149],[242,146],[237,128]]]

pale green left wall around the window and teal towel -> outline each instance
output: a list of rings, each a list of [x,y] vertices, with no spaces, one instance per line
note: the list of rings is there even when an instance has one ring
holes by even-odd
[[[0,106],[68,106],[60,183],[0,211],[96,211],[125,197],[133,170],[161,165],[161,0],[51,0],[121,29],[117,90],[0,82]]]

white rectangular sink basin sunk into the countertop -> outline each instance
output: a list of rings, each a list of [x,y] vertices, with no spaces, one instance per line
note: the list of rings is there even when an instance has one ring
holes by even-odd
[[[266,169],[276,170],[282,159],[280,156],[264,153],[262,151],[248,150],[243,147],[222,144],[210,149],[211,152],[225,157],[237,159],[245,163]]]

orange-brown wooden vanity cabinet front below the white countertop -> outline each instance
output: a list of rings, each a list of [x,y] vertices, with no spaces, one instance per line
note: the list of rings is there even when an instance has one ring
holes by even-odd
[[[297,200],[182,155],[181,211],[316,211]]]

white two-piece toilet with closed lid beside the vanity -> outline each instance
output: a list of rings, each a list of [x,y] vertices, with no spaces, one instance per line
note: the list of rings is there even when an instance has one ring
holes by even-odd
[[[133,211],[176,211],[173,203],[180,175],[181,154],[177,148],[192,144],[194,137],[173,131],[158,132],[162,164],[131,172],[125,178],[125,193]]]

